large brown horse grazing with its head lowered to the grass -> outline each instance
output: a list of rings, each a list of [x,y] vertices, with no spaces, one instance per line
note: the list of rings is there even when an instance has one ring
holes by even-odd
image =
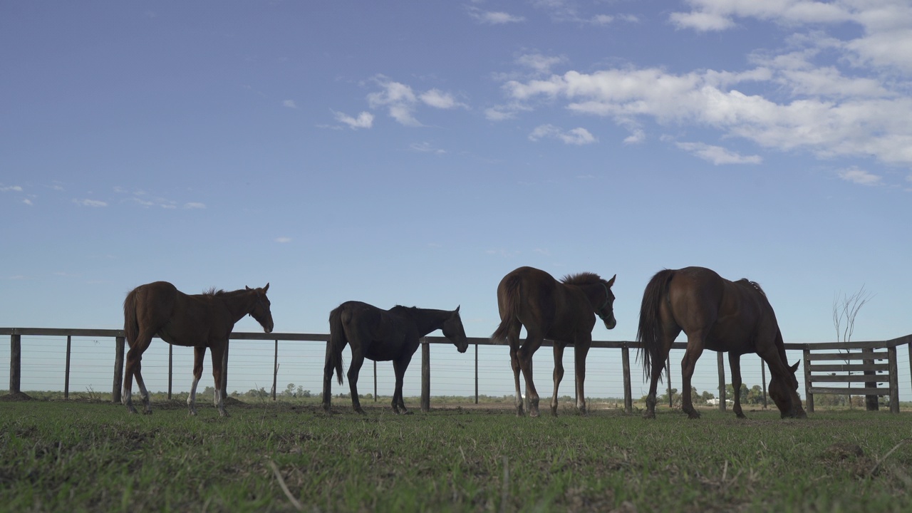
[[[700,418],[690,397],[690,378],[703,349],[728,351],[734,411],[741,412],[741,355],[755,352],[772,373],[770,396],[782,418],[803,418],[795,372],[788,365],[782,332],[770,301],[759,285],[747,279],[729,281],[704,267],[659,271],[649,280],[639,310],[637,340],[643,342],[643,372],[649,380],[645,416],[656,416],[656,387],[668,359],[671,343],[681,330],[687,351],[681,361],[682,408],[691,419]]]

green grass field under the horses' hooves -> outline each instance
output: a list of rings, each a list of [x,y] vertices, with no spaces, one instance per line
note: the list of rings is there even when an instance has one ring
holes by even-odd
[[[7,511],[909,511],[912,416],[0,403]],[[417,403],[409,403],[417,406]],[[199,407],[199,404],[198,404]]]

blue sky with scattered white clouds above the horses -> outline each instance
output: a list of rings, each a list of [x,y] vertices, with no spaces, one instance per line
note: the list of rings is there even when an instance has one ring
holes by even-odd
[[[3,326],[119,328],[161,279],[487,337],[528,265],[617,274],[594,337],[633,340],[695,265],[787,341],[862,286],[854,340],[912,332],[904,1],[7,2],[0,47]]]

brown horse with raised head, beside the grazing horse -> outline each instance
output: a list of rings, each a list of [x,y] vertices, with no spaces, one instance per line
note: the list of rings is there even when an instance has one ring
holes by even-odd
[[[614,313],[615,295],[611,286],[615,275],[604,280],[593,273],[579,273],[557,281],[534,267],[520,267],[503,277],[497,286],[497,308],[501,324],[491,336],[495,343],[510,344],[510,364],[516,385],[516,414],[523,415],[523,396],[519,373],[525,378],[529,415],[538,416],[538,393],[532,382],[532,356],[544,339],[554,340],[554,396],[551,414],[557,414],[557,387],[564,378],[564,348],[574,344],[576,370],[576,407],[586,413],[586,353],[592,345],[596,315],[608,330],[617,325]],[[520,345],[520,330],[527,337]]]

